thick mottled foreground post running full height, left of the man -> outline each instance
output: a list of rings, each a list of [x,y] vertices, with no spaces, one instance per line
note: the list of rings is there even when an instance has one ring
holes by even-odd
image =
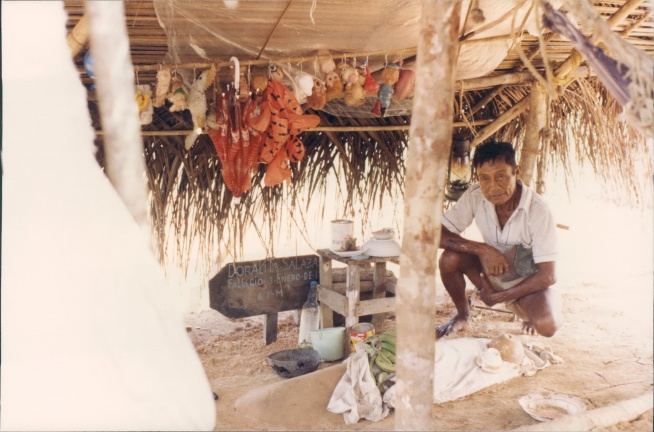
[[[436,254],[452,143],[460,0],[423,2],[396,297],[396,430],[433,428]]]

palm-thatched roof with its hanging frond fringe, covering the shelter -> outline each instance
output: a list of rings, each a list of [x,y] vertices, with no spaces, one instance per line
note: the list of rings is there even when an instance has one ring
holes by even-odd
[[[294,68],[304,67],[311,72],[315,70],[318,49],[329,49],[336,61],[344,53],[350,53],[348,62],[367,60],[377,74],[386,61],[401,57],[404,67],[411,67],[415,62],[420,1],[314,4],[297,0],[241,0],[236,9],[229,7],[229,3],[234,2],[126,2],[127,31],[137,81],[154,84],[156,71],[162,66],[185,69],[197,76],[209,64],[216,63],[223,65],[222,73],[228,75],[231,72],[225,65],[231,56],[238,56],[242,64],[249,61],[252,69],[265,69],[269,63],[293,63]],[[477,2],[482,9],[491,3]],[[593,3],[604,20],[611,19],[616,34],[640,52],[654,57],[654,19],[645,1]],[[469,4],[463,2],[462,15],[466,15]],[[523,4],[529,6],[531,2]],[[83,2],[67,0],[65,5],[69,13],[68,28],[72,31],[83,15]],[[486,37],[478,26],[476,32],[462,35],[463,47],[492,47],[503,39],[511,42],[511,48],[484,76],[457,82],[453,133],[469,137],[483,135],[490,123],[511,114],[511,108],[529,94],[534,72],[547,78],[547,72],[556,71],[566,60],[570,61],[573,47],[569,41],[546,29],[536,35],[522,31],[525,27],[520,23],[525,24],[519,18],[513,20],[512,34]],[[468,25],[466,21],[464,29]],[[583,27],[582,31],[590,36]],[[191,44],[204,50],[206,58],[199,56],[197,49],[190,49]],[[75,62],[83,83],[91,87],[92,79],[83,65],[85,52],[86,48],[81,49]],[[352,53],[356,53],[356,59]],[[620,54],[612,56],[619,60]],[[630,191],[635,202],[649,199],[651,153],[645,137],[620,118],[620,105],[593,70],[584,68],[584,59],[577,61],[576,74],[565,82],[557,82],[558,94],[549,99],[549,136],[546,137],[549,147],[541,153],[540,163],[545,168],[557,169],[561,181],[567,181],[579,160],[591,164],[607,185]],[[207,92],[210,106],[211,93]],[[94,127],[100,130],[94,99],[90,90],[89,109]],[[374,100],[366,100],[366,108],[358,112],[369,112],[368,106],[373,103]],[[295,223],[306,229],[302,220],[304,210],[308,206],[324,206],[325,199],[330,199],[326,196],[330,178],[344,195],[341,216],[352,216],[353,202],[362,203],[364,212],[374,212],[384,197],[401,196],[406,150],[410,148],[410,101],[404,105],[409,109],[400,109],[400,115],[387,117],[357,116],[344,110],[343,104],[337,106],[337,101],[330,104],[331,108],[315,112],[321,118],[319,129],[304,132],[300,137],[306,155],[300,163],[292,164],[291,185],[263,187],[265,166],[261,165],[253,180],[254,187],[243,195],[240,203],[234,202],[222,182],[220,162],[208,136],[201,135],[187,151],[185,135],[174,134],[175,131],[187,133],[193,128],[190,113],[171,113],[168,105],[155,109],[152,124],[143,126],[143,140],[152,197],[151,216],[161,244],[174,241],[177,258],[186,263],[191,248],[197,248],[195,242],[199,241],[203,257],[215,263],[219,245],[238,255],[243,230],[253,222],[262,232],[262,239],[266,237],[264,233],[276,232],[279,215],[283,213],[293,214]],[[307,112],[313,111],[307,108]],[[524,136],[524,112],[516,109],[510,121],[499,125],[491,136],[512,141],[519,149]],[[332,126],[335,128],[330,129]],[[101,135],[96,143],[98,161],[103,165]],[[175,239],[167,237],[170,227],[174,227]],[[269,253],[274,254],[274,242],[266,243]],[[167,259],[175,258],[163,255]]]

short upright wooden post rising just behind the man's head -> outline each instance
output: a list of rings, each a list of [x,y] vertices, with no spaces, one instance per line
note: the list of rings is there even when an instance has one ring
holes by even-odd
[[[547,120],[547,93],[539,83],[534,82],[528,97],[529,114],[527,115],[525,139],[520,151],[520,165],[522,166],[520,178],[526,186],[531,186],[534,167],[538,160],[541,135]]]

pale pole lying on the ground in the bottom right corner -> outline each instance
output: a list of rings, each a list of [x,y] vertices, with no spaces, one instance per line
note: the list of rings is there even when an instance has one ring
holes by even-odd
[[[566,415],[548,423],[522,426],[519,431],[588,431],[606,430],[620,422],[634,420],[652,409],[652,392],[633,399],[622,400],[613,405],[584,411],[576,415]]]

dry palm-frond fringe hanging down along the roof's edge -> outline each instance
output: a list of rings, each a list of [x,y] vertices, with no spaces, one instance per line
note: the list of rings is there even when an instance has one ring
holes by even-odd
[[[493,120],[528,95],[527,86],[507,86],[489,102],[478,104],[494,89],[460,92],[454,100],[454,121]],[[97,106],[89,102],[99,128]],[[476,111],[473,111],[476,110]],[[471,111],[473,112],[470,115]],[[651,149],[636,130],[622,121],[621,107],[593,77],[578,78],[550,100],[549,145],[541,166],[562,174],[566,185],[576,176],[578,164],[589,163],[609,196],[627,197],[643,205],[651,199]],[[343,118],[316,112],[321,126],[357,127],[408,125],[409,116]],[[520,149],[526,114],[502,126],[493,139],[512,142]],[[155,110],[154,122],[144,130],[188,130],[188,111]],[[484,125],[459,126],[453,134],[474,137]],[[145,137],[145,159],[150,188],[150,216],[160,256],[187,272],[191,263],[214,269],[243,255],[245,234],[254,230],[269,256],[282,238],[282,224],[298,231],[307,243],[316,222],[308,214],[371,220],[388,214],[389,200],[401,203],[405,160],[410,147],[406,130],[358,132],[305,132],[304,159],[292,165],[288,185],[263,187],[265,165],[252,180],[253,187],[237,202],[224,186],[220,161],[207,135],[191,151],[184,136]],[[102,137],[96,139],[97,159],[104,166]],[[519,154],[518,154],[519,156]],[[537,179],[542,180],[542,179]],[[338,214],[327,214],[326,204],[336,202]],[[383,210],[382,210],[383,208]],[[397,215],[402,209],[393,209]],[[371,228],[371,227],[366,227]],[[398,227],[399,228],[399,227]]]

